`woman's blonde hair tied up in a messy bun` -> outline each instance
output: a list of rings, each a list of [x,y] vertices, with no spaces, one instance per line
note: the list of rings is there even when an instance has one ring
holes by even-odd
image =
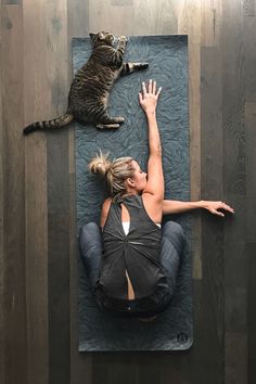
[[[93,157],[88,167],[92,174],[106,178],[111,194],[114,197],[121,196],[126,192],[125,181],[132,177],[135,168],[132,167],[132,157],[118,157],[113,162],[108,159],[108,153]]]

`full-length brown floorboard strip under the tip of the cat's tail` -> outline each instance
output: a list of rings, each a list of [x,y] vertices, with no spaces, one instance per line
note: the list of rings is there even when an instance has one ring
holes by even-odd
[[[50,93],[46,81],[48,74],[44,59],[47,53],[44,3],[24,0],[23,12],[24,104],[27,125],[50,117],[46,116],[50,106]],[[44,135],[33,135],[25,139],[28,384],[46,383],[49,375],[46,150]]]

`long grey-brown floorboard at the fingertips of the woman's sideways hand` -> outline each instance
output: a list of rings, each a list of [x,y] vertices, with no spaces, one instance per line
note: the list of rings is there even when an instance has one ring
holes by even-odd
[[[223,194],[235,209],[226,221],[226,307],[233,289],[246,287],[245,239],[245,78],[243,55],[243,17],[240,1],[226,1],[223,17]],[[233,63],[233,65],[230,65]],[[228,291],[229,289],[229,291]],[[229,294],[230,293],[230,294]],[[229,297],[230,296],[230,297]],[[228,307],[227,307],[228,308]],[[229,331],[228,323],[227,331]],[[232,330],[230,330],[232,331]]]

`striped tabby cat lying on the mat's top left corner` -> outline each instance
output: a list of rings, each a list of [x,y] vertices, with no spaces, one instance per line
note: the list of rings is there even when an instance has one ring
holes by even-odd
[[[114,81],[123,75],[144,69],[148,63],[125,63],[124,53],[127,38],[116,38],[105,31],[90,34],[92,53],[88,62],[77,72],[71,85],[67,111],[57,118],[33,123],[24,128],[24,135],[37,130],[56,130],[76,120],[91,123],[99,129],[119,128],[124,117],[107,114],[110,90]]]

